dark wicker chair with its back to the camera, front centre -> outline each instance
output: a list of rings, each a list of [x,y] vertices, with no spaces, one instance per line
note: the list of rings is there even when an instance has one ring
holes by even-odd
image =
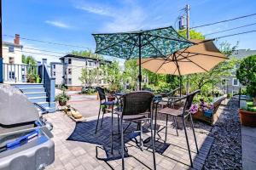
[[[154,159],[154,169],[155,166],[155,156],[154,156],[154,134],[153,134],[153,112],[151,104],[153,103],[154,94],[146,91],[133,92],[130,94],[125,94],[121,97],[121,109],[115,111],[119,116],[120,129],[121,129],[121,147],[122,147],[122,168],[125,169],[125,144],[124,144],[124,130],[123,122],[139,122],[140,124],[140,146],[143,149],[143,128],[142,122],[149,121],[151,129],[151,142],[153,147],[153,159]],[[149,116],[148,116],[149,115]]]

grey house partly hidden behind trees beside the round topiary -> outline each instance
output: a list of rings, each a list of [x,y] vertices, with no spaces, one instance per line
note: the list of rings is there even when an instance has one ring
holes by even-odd
[[[256,54],[256,50],[250,50],[250,49],[238,49],[234,51],[234,53],[231,55],[232,57],[235,57],[236,59],[243,59],[249,55]],[[223,77],[219,88],[221,88],[225,94],[238,94],[239,88],[244,88],[241,83],[236,78],[236,70],[239,68],[239,65],[235,65],[234,69],[232,70],[232,75],[230,77]]]

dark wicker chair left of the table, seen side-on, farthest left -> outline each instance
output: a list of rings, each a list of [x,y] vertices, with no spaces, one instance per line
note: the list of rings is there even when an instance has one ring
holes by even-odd
[[[100,97],[100,109],[99,109],[99,113],[98,113],[95,133],[97,133],[97,128],[98,128],[98,124],[99,124],[99,119],[100,119],[100,115],[101,115],[102,106],[108,107],[109,105],[111,105],[112,106],[112,114],[113,114],[113,106],[118,105],[118,102],[116,100],[114,100],[114,101],[108,101],[107,100],[106,94],[105,94],[105,91],[104,91],[103,88],[96,87],[96,91],[98,92],[99,97]],[[103,123],[103,119],[104,119],[105,114],[106,114],[106,109],[103,109],[101,127],[102,127],[102,123]]]

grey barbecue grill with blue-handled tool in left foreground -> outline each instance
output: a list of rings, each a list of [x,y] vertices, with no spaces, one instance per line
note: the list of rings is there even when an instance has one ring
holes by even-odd
[[[55,160],[51,125],[38,108],[20,90],[0,84],[0,170],[43,169]]]

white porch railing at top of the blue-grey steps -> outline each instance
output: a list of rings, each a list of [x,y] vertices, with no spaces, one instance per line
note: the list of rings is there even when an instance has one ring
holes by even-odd
[[[3,63],[3,82],[27,82],[30,74],[38,75],[38,65]]]

